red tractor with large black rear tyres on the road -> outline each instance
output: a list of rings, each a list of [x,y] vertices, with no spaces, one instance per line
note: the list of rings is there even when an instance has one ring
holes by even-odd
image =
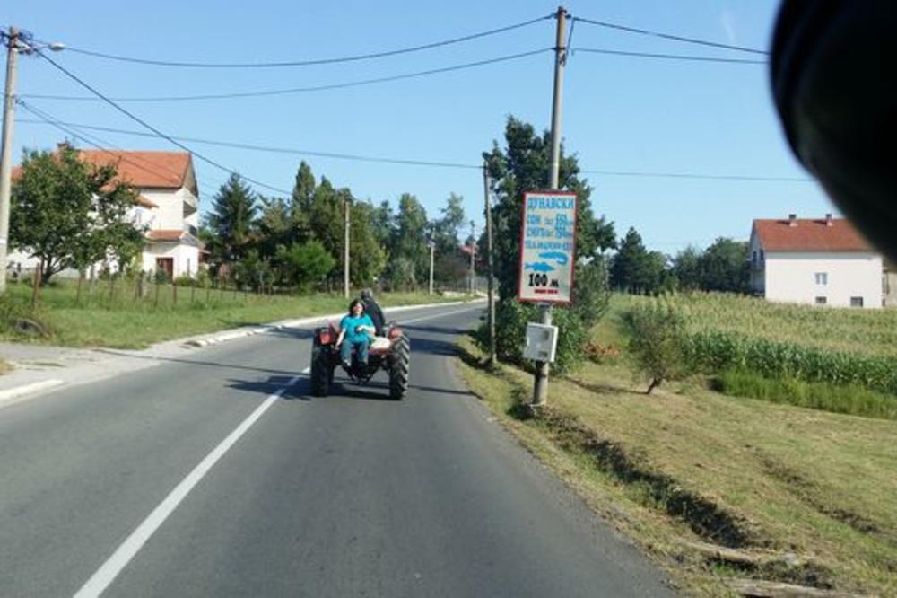
[[[315,330],[314,345],[311,348],[311,393],[316,397],[326,397],[334,381],[334,371],[340,365],[339,348],[336,339],[339,329],[333,322],[329,326]],[[396,322],[389,322],[385,336],[375,337],[368,349],[368,364],[361,365],[352,356],[352,365],[343,366],[346,374],[357,384],[366,384],[380,368],[389,376],[389,397],[402,400],[408,390],[408,367],[411,361],[411,343]]]

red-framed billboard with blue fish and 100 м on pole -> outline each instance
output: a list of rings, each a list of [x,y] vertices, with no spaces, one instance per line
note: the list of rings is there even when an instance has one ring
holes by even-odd
[[[518,301],[573,301],[576,215],[576,193],[527,191],[524,194]]]

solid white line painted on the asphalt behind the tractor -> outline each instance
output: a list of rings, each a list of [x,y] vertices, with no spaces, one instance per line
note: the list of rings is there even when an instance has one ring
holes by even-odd
[[[310,370],[311,368],[307,367],[302,370],[301,374],[309,374]],[[269,395],[265,402],[259,405],[248,418],[244,419],[231,434],[222,440],[221,444],[218,444],[211,453],[205,455],[205,459],[199,462],[199,464],[187,474],[187,477],[182,479],[180,483],[171,490],[169,495],[162,500],[159,506],[152,510],[152,513],[144,519],[143,523],[140,523],[140,525],[137,526],[134,532],[131,532],[131,535],[121,543],[118,549],[112,553],[112,556],[103,563],[102,567],[97,569],[96,573],[94,573],[81,589],[74,594],[74,597],[93,598],[102,594],[106,588],[109,587],[109,584],[115,580],[118,574],[121,573],[122,569],[124,569],[131,559],[134,558],[135,554],[143,548],[146,541],[152,537],[152,534],[160,528],[162,523],[165,523],[165,520],[168,519],[169,515],[178,507],[180,501],[187,497],[190,490],[203,479],[205,474],[213,468],[213,465],[224,456],[224,453],[227,453],[231,446],[237,443],[240,436],[246,434],[247,430],[256,423],[258,418],[261,418],[262,415],[274,405],[274,402],[281,398],[283,392],[299,381],[301,374],[293,376],[290,379],[290,382],[286,383],[283,388],[274,392],[274,394]]]

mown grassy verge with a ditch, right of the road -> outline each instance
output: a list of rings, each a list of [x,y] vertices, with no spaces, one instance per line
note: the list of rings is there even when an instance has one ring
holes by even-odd
[[[736,578],[897,590],[897,422],[695,383],[646,396],[616,358],[554,379],[551,409],[525,420],[531,377],[490,373],[470,339],[461,345],[466,382],[503,425],[687,592],[731,594]],[[711,556],[709,545],[750,558]]]

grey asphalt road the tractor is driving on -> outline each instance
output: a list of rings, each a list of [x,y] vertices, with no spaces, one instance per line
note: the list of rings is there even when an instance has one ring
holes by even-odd
[[[398,316],[401,402],[286,330],[0,410],[0,595],[672,594],[464,390],[479,312]]]

